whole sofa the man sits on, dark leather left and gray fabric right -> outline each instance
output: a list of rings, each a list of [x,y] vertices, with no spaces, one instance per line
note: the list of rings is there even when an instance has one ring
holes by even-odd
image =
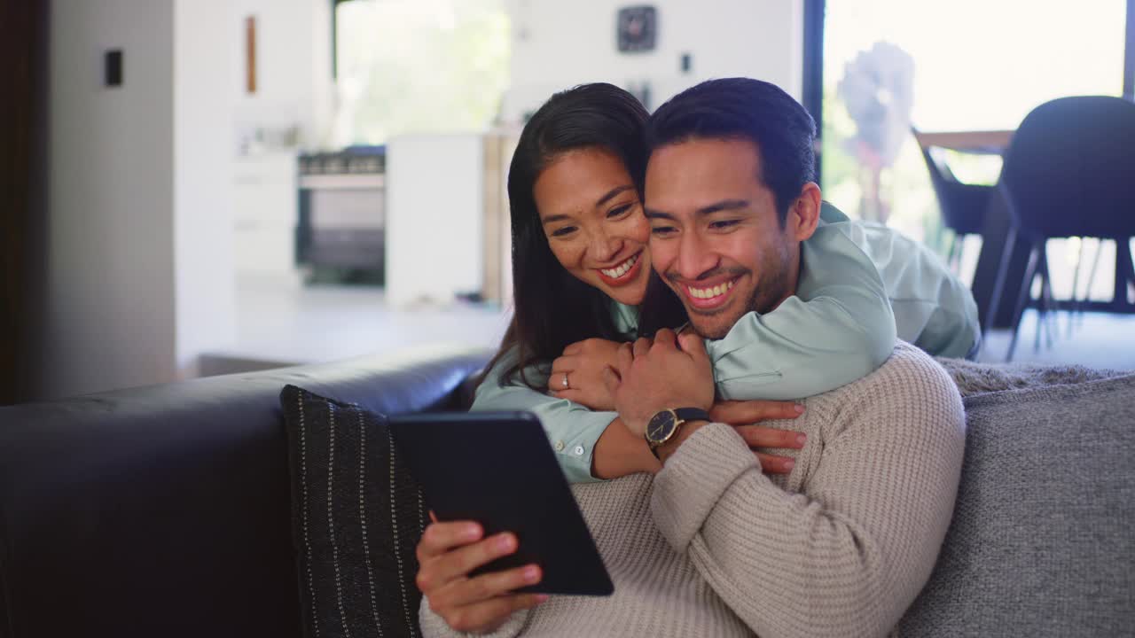
[[[0,408],[0,636],[302,635],[280,389],[462,410],[490,352],[396,356]],[[1135,632],[1135,377],[948,366],[958,509],[915,636]]]

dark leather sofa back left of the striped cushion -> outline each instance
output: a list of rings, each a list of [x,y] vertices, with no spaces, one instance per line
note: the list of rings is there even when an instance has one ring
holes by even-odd
[[[461,410],[489,355],[435,347],[0,408],[0,636],[299,636],[283,386],[389,414]]]

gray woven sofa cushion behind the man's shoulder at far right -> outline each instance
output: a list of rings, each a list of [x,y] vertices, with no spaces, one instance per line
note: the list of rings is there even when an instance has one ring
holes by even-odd
[[[905,636],[1135,631],[1135,375],[976,394],[934,573]]]

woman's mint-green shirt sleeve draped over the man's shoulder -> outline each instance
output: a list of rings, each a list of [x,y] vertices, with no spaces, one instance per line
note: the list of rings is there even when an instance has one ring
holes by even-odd
[[[869,375],[894,349],[894,314],[871,258],[834,226],[821,226],[801,246],[797,294],[706,342],[718,397],[830,392]]]

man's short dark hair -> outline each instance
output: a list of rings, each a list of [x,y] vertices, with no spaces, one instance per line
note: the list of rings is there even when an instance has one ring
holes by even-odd
[[[816,121],[775,84],[709,79],[674,95],[647,123],[647,150],[696,137],[748,140],[760,154],[757,177],[773,192],[783,225],[800,188],[816,178]]]

